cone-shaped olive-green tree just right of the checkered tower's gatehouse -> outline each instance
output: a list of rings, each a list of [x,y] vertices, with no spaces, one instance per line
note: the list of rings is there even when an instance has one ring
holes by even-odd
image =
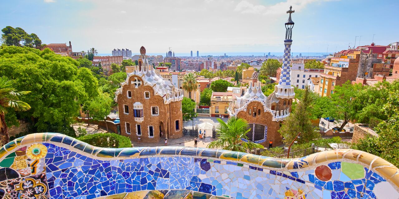
[[[308,107],[312,105],[313,99],[310,96],[312,92],[308,86],[305,87],[302,100],[290,116],[282,123],[279,133],[284,138],[284,144],[291,144],[296,135],[300,132],[300,138],[297,139],[299,143],[308,143],[314,139],[320,138],[320,134],[312,126],[309,118]]]

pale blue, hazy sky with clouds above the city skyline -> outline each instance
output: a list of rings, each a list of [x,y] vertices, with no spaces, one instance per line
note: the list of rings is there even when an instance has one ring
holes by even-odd
[[[13,0],[2,1],[0,27],[22,27],[43,43],[72,42],[100,53],[143,45],[147,52],[278,52],[292,5],[292,51],[334,52],[399,41],[397,0]],[[356,40],[359,45],[359,37]]]

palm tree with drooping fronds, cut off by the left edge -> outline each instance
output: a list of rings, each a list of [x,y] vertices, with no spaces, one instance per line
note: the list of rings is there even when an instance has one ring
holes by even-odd
[[[30,105],[26,102],[20,101],[19,97],[30,93],[30,91],[18,91],[16,89],[17,82],[10,80],[8,77],[0,77],[0,144],[4,145],[10,141],[8,136],[8,127],[6,124],[5,115],[9,108],[16,111],[27,111]]]

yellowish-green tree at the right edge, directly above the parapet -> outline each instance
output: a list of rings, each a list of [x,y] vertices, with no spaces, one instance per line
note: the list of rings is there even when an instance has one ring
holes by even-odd
[[[399,166],[399,91],[390,92],[383,105],[387,120],[375,129],[378,137],[367,136],[352,144],[352,148],[362,150]]]

